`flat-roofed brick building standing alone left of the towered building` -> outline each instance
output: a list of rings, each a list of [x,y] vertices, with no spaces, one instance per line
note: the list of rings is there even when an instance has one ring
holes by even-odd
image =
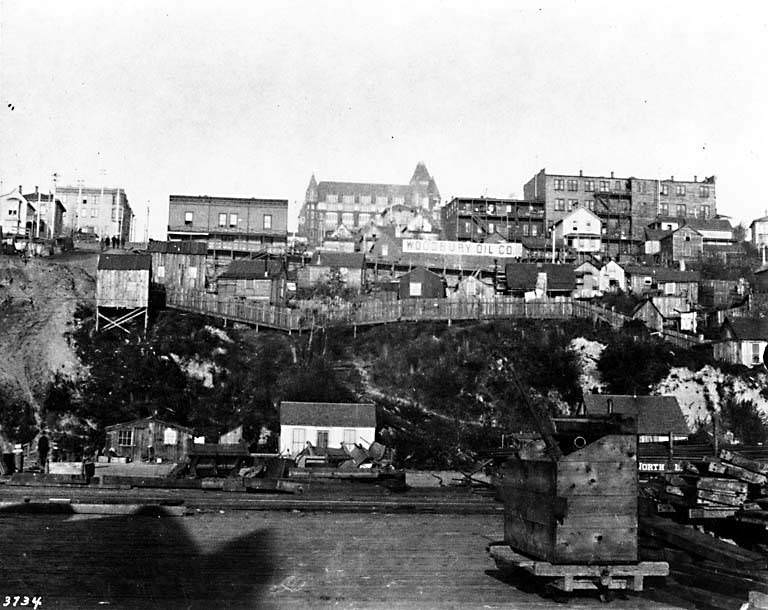
[[[209,253],[237,257],[263,250],[282,252],[287,237],[287,199],[170,196],[170,241],[205,241]]]

